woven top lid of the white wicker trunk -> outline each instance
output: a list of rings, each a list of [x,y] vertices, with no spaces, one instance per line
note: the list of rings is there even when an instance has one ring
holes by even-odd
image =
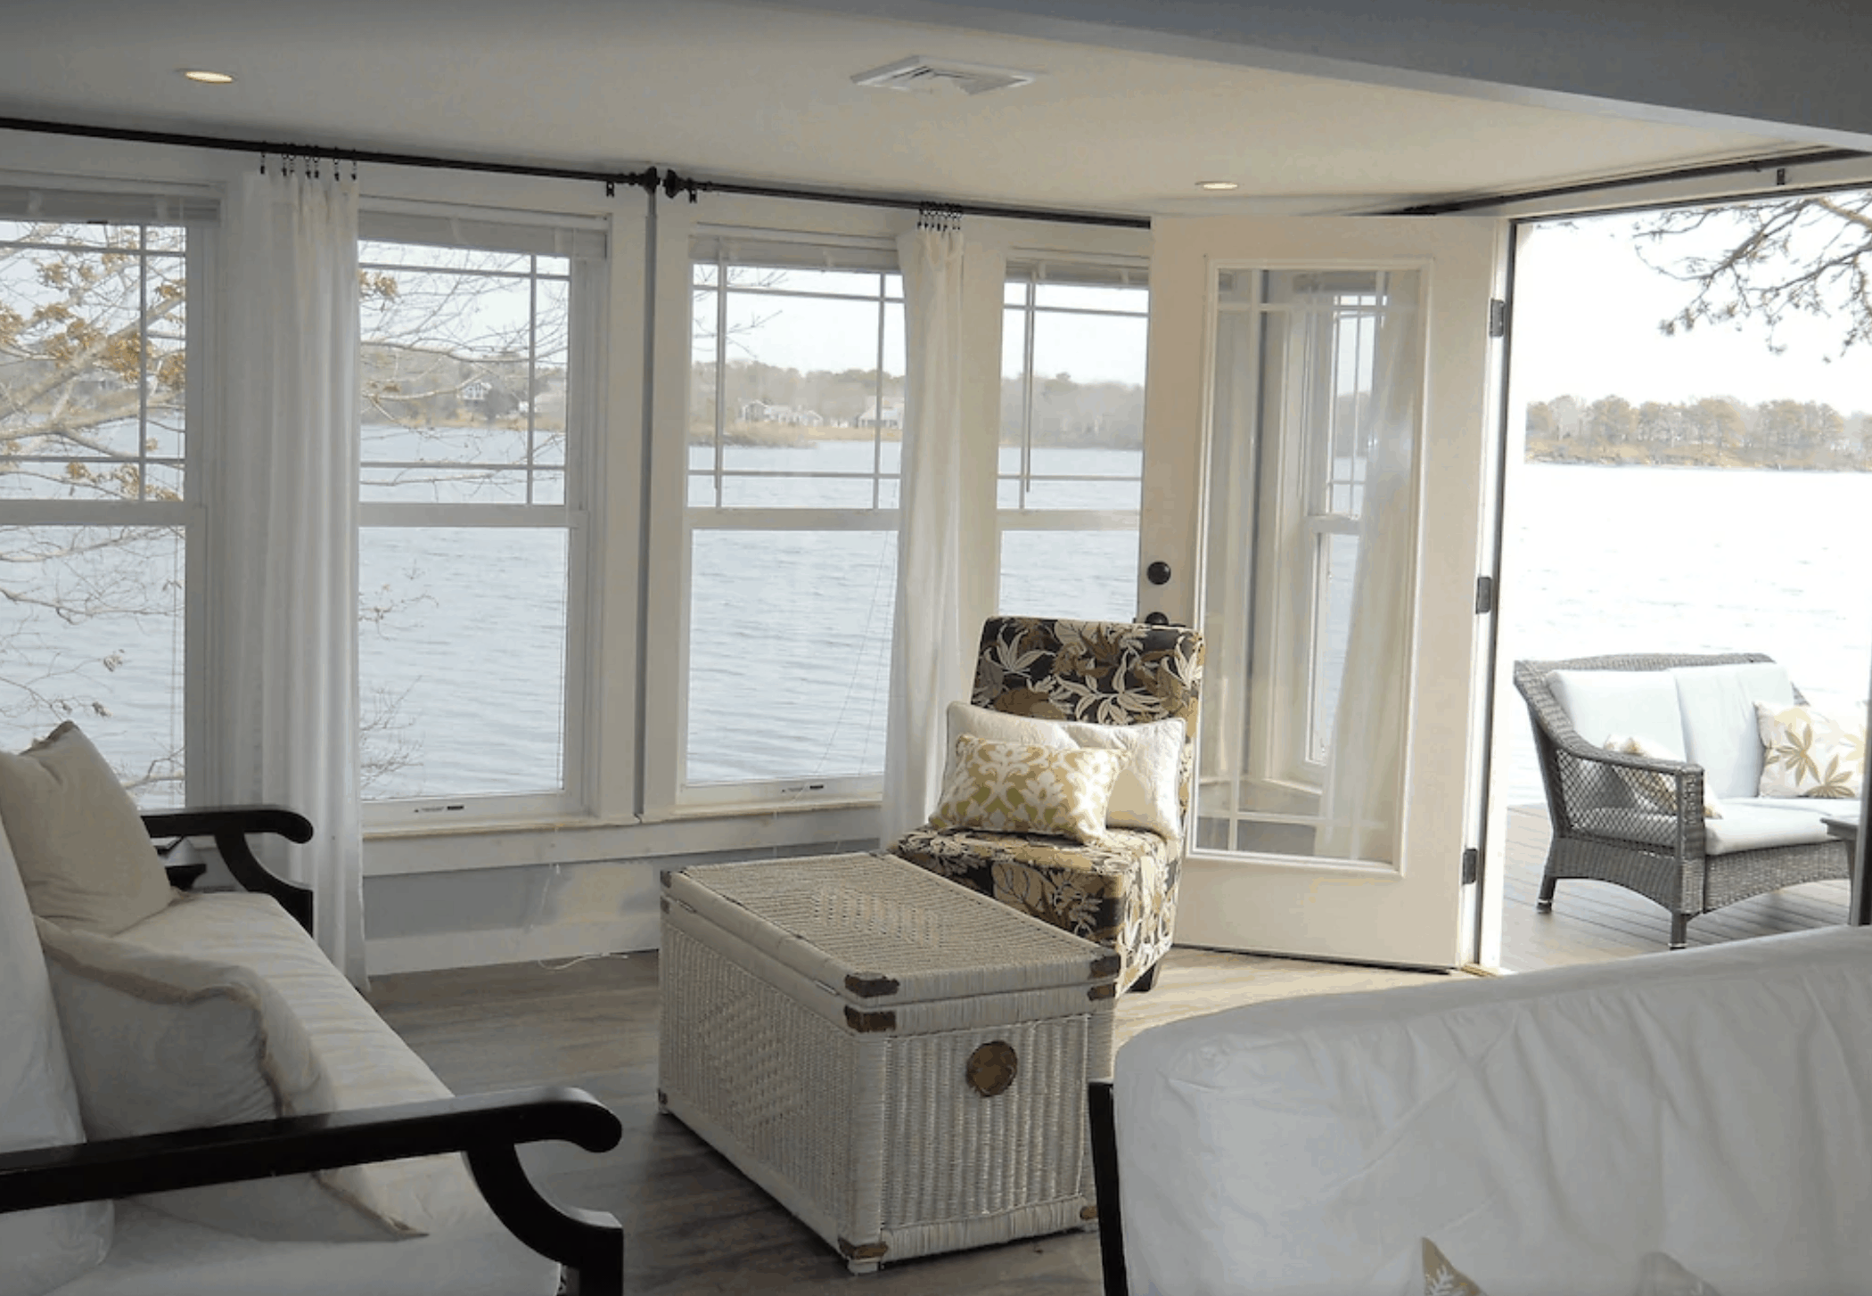
[[[672,875],[670,895],[796,970],[822,974],[829,963],[899,983],[863,994],[867,1004],[1088,983],[1104,953],[882,854],[706,863]]]

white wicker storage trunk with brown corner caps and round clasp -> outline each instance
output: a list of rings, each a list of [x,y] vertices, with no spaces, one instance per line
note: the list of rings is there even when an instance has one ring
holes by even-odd
[[[878,854],[665,888],[657,1097],[854,1274],[1095,1219],[1110,950]]]

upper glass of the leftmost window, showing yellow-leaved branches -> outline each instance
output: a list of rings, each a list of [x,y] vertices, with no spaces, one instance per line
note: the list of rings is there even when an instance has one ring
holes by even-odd
[[[0,498],[182,496],[185,240],[0,221]]]

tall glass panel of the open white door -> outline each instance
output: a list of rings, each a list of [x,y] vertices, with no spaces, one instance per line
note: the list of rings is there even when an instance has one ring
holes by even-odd
[[[1419,272],[1217,283],[1196,845],[1397,858]]]

